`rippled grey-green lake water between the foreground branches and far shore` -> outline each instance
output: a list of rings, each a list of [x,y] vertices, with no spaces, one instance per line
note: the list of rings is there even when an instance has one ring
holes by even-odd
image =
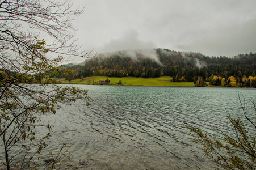
[[[94,100],[63,106],[49,150],[67,143],[69,169],[215,169],[220,165],[192,142],[194,125],[218,137],[228,130],[225,108],[240,114],[234,88],[81,86]],[[239,88],[246,102],[255,88]]]

